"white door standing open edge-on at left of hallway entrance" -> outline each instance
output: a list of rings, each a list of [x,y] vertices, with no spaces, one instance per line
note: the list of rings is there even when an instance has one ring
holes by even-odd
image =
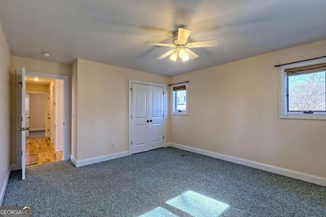
[[[20,113],[17,112],[17,130],[18,132],[18,136],[20,137],[20,139],[17,139],[17,145],[20,144],[21,146],[21,179],[24,180],[25,179],[25,131],[26,130],[30,130],[29,128],[26,128],[25,126],[25,108],[26,108],[26,101],[25,101],[25,68],[22,68],[21,71],[16,71],[16,78],[17,78],[17,91],[20,87],[21,89],[21,94],[17,94],[17,109],[18,107],[20,107],[18,110],[20,110]],[[19,125],[20,124],[20,125]],[[17,159],[17,163],[18,163],[18,159]]]

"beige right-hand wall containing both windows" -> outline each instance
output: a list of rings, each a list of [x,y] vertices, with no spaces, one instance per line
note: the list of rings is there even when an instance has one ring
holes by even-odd
[[[274,67],[325,50],[321,41],[171,77],[189,81],[189,115],[170,116],[171,142],[326,177],[326,121],[279,119]]]

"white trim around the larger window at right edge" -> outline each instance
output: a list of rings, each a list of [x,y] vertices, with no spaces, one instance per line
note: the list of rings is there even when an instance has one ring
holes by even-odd
[[[326,57],[302,61],[300,63],[287,64],[279,67],[279,118],[326,120],[326,112],[314,112],[313,114],[304,114],[303,112],[287,111],[286,99],[287,77],[285,69],[310,66],[322,63],[326,63]]]

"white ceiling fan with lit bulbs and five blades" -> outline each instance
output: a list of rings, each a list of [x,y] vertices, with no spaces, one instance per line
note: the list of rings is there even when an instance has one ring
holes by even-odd
[[[208,41],[200,41],[200,42],[188,42],[188,37],[191,34],[191,30],[185,28],[179,28],[175,32],[176,40],[173,41],[173,44],[164,44],[164,43],[155,43],[155,42],[146,42],[145,44],[154,45],[154,46],[165,46],[165,47],[173,47],[172,50],[169,50],[165,54],[158,57],[158,59],[164,59],[165,57],[170,56],[172,61],[176,61],[179,53],[179,57],[182,58],[182,61],[187,61],[188,59],[195,59],[198,57],[196,53],[194,53],[189,48],[196,47],[216,47],[218,46],[218,40],[208,40]]]

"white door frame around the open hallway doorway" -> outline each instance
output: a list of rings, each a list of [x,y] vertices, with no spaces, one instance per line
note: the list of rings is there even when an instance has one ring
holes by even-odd
[[[20,70],[19,70],[20,71]],[[58,79],[63,80],[63,120],[64,120],[64,130],[63,130],[63,160],[67,161],[70,160],[70,156],[68,155],[68,129],[69,129],[69,119],[68,119],[68,109],[69,109],[69,90],[68,90],[68,76],[66,75],[57,75],[57,74],[49,74],[49,73],[42,73],[42,72],[32,72],[32,71],[26,71],[25,76],[31,76],[31,77],[41,77],[41,78],[49,78],[49,79]],[[21,147],[19,145],[16,145],[16,169],[21,169]]]

